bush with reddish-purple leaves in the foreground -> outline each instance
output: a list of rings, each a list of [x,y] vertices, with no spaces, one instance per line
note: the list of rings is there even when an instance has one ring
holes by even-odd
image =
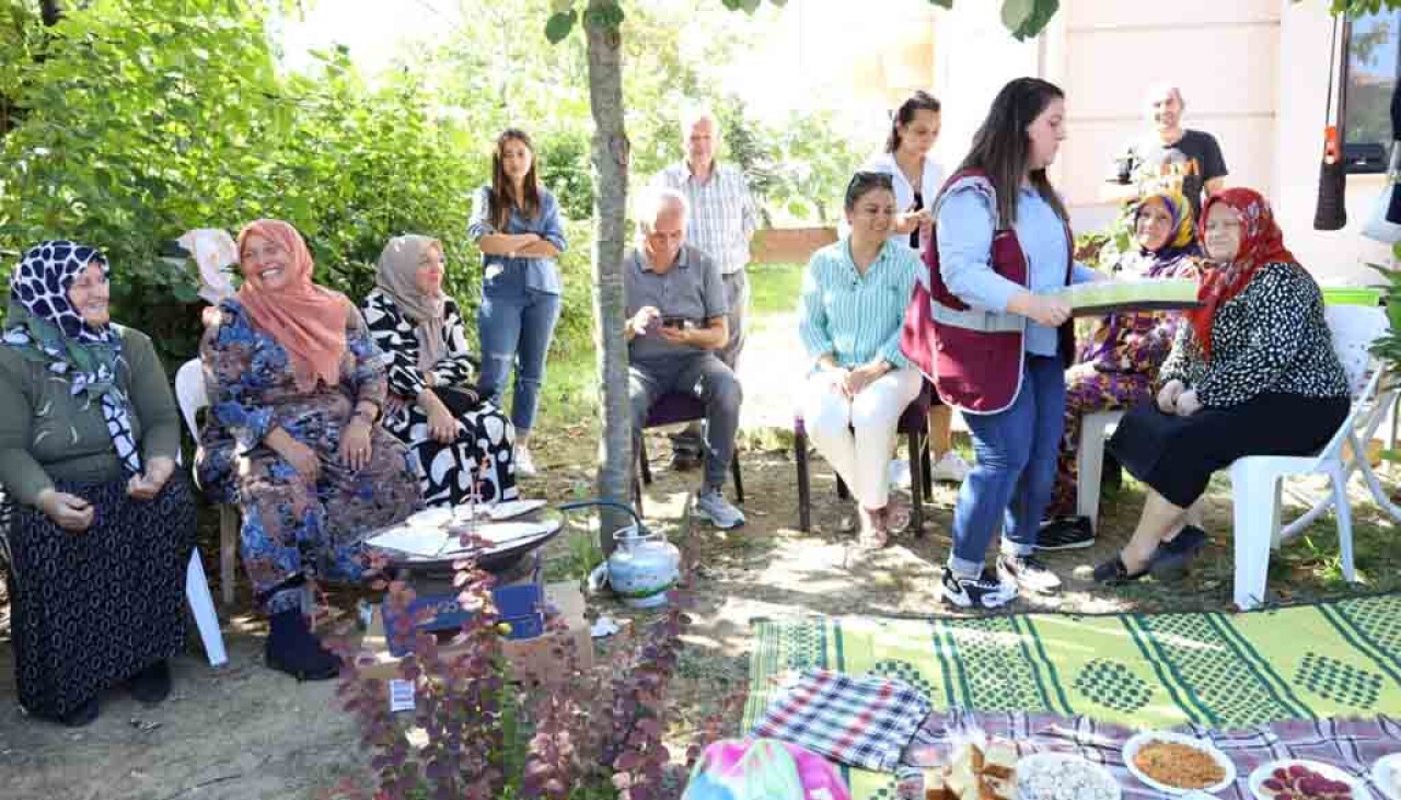
[[[567,680],[516,688],[502,654],[490,576],[472,560],[454,567],[461,602],[476,614],[458,633],[465,650],[453,657],[441,654],[433,636],[412,630],[403,614],[412,590],[399,581],[387,586],[385,602],[399,612],[396,629],[387,633],[410,642],[399,678],[415,685],[412,717],[391,715],[384,681],[360,677],[353,653],[346,653],[339,695],[373,752],[370,769],[378,785],[373,796],[678,797],[685,776],[663,744],[674,710],[668,688],[682,646],[678,593],[640,635],[621,633],[601,664],[579,668],[570,640],[553,653],[569,665]],[[703,745],[722,737],[723,719],[736,715],[743,701],[743,692],[733,694],[702,722],[686,751],[688,768]],[[410,744],[410,727],[426,736],[426,744]],[[368,796],[354,779],[324,794]]]

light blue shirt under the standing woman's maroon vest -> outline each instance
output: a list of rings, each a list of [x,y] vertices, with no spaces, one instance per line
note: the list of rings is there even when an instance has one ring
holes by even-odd
[[[939,206],[939,268],[960,300],[975,308],[1006,312],[1007,303],[1023,289],[1033,293],[1065,286],[1065,223],[1051,203],[1028,186],[1017,192],[1017,241],[1027,256],[1028,286],[1023,287],[992,270],[993,209],[988,195],[968,186],[948,193]],[[1070,283],[1097,277],[1083,263],[1075,263]],[[1026,350],[1035,356],[1056,354],[1056,329],[1027,319]]]

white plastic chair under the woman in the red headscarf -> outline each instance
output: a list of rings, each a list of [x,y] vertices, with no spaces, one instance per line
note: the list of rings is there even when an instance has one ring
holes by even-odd
[[[1386,370],[1367,352],[1372,342],[1387,331],[1386,311],[1362,305],[1330,305],[1325,310],[1332,345],[1348,373],[1352,409],[1327,446],[1317,455],[1250,455],[1230,467],[1234,497],[1236,605],[1257,607],[1265,597],[1269,553],[1302,532],[1330,507],[1338,516],[1338,544],[1342,551],[1342,576],[1356,580],[1352,563],[1352,507],[1348,503],[1348,479],[1362,471],[1377,504],[1401,521],[1401,509],[1387,497],[1381,482],[1367,462],[1365,444],[1386,419],[1397,401],[1398,388],[1387,385]],[[1281,479],[1288,476],[1327,475],[1332,492],[1318,500],[1304,516],[1281,528]]]

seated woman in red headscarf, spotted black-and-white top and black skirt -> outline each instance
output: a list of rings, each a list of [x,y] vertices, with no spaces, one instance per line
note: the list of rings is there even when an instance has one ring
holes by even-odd
[[[1094,569],[1098,583],[1185,574],[1206,544],[1187,510],[1212,472],[1244,455],[1314,453],[1348,416],[1323,294],[1285,249],[1269,203],[1252,189],[1226,189],[1206,200],[1202,219],[1210,261],[1201,307],[1177,332],[1156,401],[1131,411],[1110,440],[1149,493],[1133,538]]]

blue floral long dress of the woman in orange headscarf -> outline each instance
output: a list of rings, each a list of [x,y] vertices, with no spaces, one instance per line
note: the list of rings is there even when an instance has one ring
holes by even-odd
[[[242,511],[244,567],[269,614],[298,607],[304,580],[361,580],[366,535],[423,507],[408,450],[382,427],[373,430],[370,464],[340,464],[340,433],[356,404],[382,408],[387,396],[384,354],[357,312],[347,315],[346,345],[340,382],[308,394],[297,388],[287,350],[237,300],[220,305],[200,343],[212,401],[200,485]],[[263,443],[277,427],[315,451],[315,481]]]

